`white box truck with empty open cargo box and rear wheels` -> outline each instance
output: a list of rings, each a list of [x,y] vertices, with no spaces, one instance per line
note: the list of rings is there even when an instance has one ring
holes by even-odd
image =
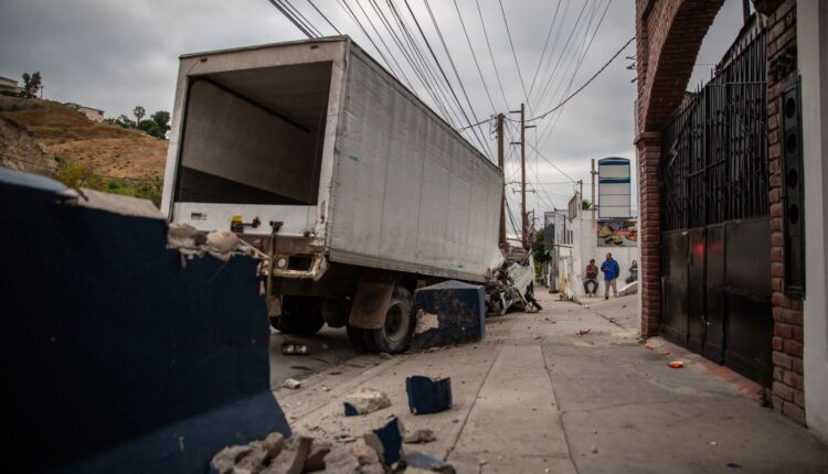
[[[503,176],[348,36],[181,56],[161,209],[255,247],[275,327],[405,351],[413,292],[498,272]]]

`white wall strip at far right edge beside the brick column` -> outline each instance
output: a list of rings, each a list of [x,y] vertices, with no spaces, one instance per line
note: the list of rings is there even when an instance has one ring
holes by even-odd
[[[805,165],[805,416],[828,440],[828,2],[797,2]]]

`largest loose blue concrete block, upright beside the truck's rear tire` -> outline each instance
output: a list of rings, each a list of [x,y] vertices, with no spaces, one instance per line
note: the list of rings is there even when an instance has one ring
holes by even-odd
[[[484,287],[449,280],[421,288],[414,299],[417,327],[412,348],[477,342],[486,336]]]

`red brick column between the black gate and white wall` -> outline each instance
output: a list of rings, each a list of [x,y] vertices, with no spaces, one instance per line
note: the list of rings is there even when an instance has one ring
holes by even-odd
[[[772,3],[772,2],[765,2]],[[763,6],[767,15],[767,141],[771,201],[771,286],[774,319],[772,340],[774,408],[805,424],[803,391],[803,302],[785,295],[784,205],[782,202],[782,131],[779,130],[779,95],[782,85],[796,77],[796,2],[786,0]],[[782,60],[785,57],[785,60]]]

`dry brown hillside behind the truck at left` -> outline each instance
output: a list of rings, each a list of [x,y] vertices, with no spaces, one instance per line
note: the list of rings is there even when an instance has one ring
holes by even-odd
[[[64,160],[114,179],[161,179],[167,142],[141,131],[97,123],[83,114],[39,99],[0,96],[0,160],[38,171]],[[14,164],[12,164],[14,163]]]

